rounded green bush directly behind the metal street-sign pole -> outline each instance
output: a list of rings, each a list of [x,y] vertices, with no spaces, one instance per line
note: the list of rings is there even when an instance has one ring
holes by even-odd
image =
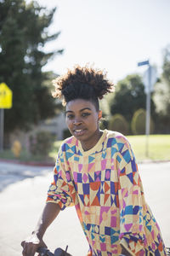
[[[134,114],[131,122],[131,129],[134,135],[145,134],[146,112],[139,108]],[[154,131],[154,122],[150,117],[150,133]]]

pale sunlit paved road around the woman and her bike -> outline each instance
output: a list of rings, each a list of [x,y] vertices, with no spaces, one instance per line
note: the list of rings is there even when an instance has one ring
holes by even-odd
[[[170,246],[170,162],[141,164],[139,172],[146,200],[160,224],[166,245]],[[20,166],[0,162],[1,255],[21,255],[20,241],[26,238],[37,224],[52,178],[53,167]],[[48,228],[44,240],[52,251],[55,247],[64,248],[67,244],[74,256],[85,255],[88,251],[88,243],[83,236],[74,207],[69,207],[59,214],[54,224]]]

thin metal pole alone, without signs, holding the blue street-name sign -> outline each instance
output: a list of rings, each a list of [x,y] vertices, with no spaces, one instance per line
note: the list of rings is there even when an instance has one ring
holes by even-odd
[[[145,155],[149,156],[149,137],[150,137],[150,82],[151,82],[151,67],[149,65],[148,68],[149,76],[148,76],[148,91],[146,94],[146,124],[145,124],[145,134],[146,134],[146,148],[145,148]]]

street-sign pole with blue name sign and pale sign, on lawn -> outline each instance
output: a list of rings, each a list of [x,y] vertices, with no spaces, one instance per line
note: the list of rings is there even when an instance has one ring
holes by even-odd
[[[148,69],[144,73],[143,83],[144,91],[146,93],[146,123],[145,123],[145,135],[146,146],[145,155],[149,156],[149,136],[150,136],[150,92],[153,91],[153,85],[156,84],[156,68],[150,66],[150,61],[142,61],[138,63],[138,66],[148,65]]]

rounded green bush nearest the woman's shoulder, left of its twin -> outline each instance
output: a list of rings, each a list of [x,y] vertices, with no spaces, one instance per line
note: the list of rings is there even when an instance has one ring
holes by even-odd
[[[111,131],[119,131],[124,135],[128,134],[127,120],[119,113],[116,113],[111,117],[108,128]]]

